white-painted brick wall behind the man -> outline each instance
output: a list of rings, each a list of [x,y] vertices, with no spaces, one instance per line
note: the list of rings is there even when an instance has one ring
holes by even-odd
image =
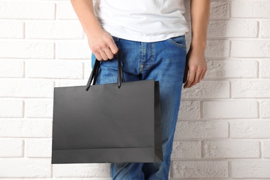
[[[170,179],[270,179],[270,1],[212,0],[207,45],[206,78],[182,89]],[[90,71],[69,0],[0,0],[0,179],[110,179],[109,164],[51,164],[53,87]]]

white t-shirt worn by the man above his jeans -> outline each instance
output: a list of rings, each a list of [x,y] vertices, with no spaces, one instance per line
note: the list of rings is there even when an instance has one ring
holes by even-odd
[[[189,30],[184,0],[96,0],[102,28],[115,37],[158,42]]]

